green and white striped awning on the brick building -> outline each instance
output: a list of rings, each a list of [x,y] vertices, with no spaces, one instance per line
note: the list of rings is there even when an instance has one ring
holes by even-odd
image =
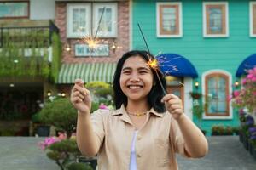
[[[57,83],[69,84],[77,78],[84,82],[113,82],[115,68],[116,63],[62,64]]]

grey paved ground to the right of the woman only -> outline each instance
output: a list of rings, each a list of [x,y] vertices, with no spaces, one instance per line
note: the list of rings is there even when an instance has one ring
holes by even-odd
[[[178,156],[180,170],[256,170],[256,160],[237,136],[209,137],[209,153],[201,159]]]

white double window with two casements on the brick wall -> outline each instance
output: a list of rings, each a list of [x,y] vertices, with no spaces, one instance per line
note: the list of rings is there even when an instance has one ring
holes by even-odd
[[[105,11],[102,15],[103,8]],[[117,36],[117,3],[72,3],[67,5],[67,37]]]

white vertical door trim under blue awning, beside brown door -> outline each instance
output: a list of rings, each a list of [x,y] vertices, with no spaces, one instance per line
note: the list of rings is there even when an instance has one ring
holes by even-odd
[[[191,121],[193,121],[192,105],[193,99],[190,98],[189,93],[193,91],[193,79],[191,77],[184,77],[184,112]]]

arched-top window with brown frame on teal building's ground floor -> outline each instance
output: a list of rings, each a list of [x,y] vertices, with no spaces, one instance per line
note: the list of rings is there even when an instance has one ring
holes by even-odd
[[[205,117],[230,118],[231,108],[228,96],[231,94],[230,74],[212,71],[204,76],[204,94],[207,108]]]

